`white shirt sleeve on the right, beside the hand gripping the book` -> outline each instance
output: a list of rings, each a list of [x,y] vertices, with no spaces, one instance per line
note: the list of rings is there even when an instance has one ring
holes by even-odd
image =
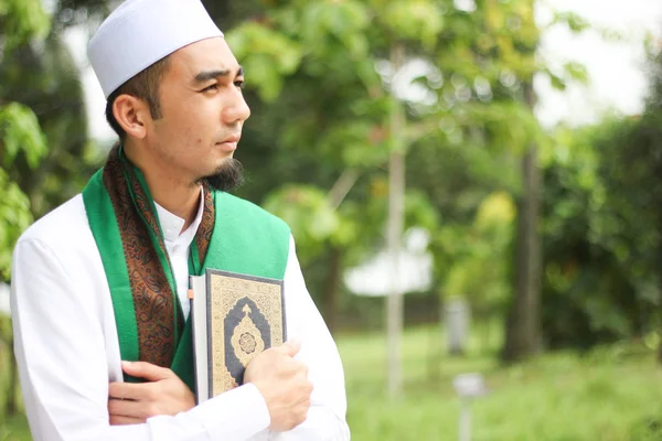
[[[291,236],[284,284],[287,338],[301,343],[301,349],[295,358],[308,366],[308,378],[313,390],[306,421],[290,431],[271,433],[269,440],[349,440],[344,373],[340,354],[306,288]]]

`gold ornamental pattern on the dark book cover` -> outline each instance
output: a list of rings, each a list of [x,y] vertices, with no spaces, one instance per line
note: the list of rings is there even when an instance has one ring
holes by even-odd
[[[271,346],[279,346],[284,343],[280,290],[281,286],[276,283],[212,275],[210,292],[212,300],[209,312],[212,318],[210,367],[212,369],[213,397],[238,386],[227,368],[226,351],[232,351],[241,364],[246,367],[255,356],[266,348],[259,329],[250,319],[254,311],[248,304],[242,308],[244,316],[234,329],[225,329],[225,318],[237,302],[246,298],[252,300],[268,323]],[[227,348],[224,338],[226,334],[232,335],[231,347]]]

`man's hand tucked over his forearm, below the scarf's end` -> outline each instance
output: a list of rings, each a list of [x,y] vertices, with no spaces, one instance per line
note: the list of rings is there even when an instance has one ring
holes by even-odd
[[[189,387],[170,369],[145,362],[122,362],[125,373],[149,383],[110,383],[110,424],[138,424],[157,415],[174,416],[195,406]]]

